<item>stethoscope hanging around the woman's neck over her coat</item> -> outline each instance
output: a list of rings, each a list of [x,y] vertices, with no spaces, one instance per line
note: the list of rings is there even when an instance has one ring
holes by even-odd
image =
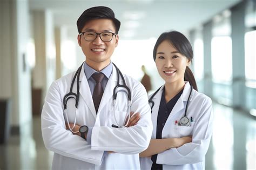
[[[152,113],[152,109],[154,107],[154,101],[152,100],[154,96],[156,96],[157,92],[161,89],[161,87],[159,87],[159,89],[154,92],[152,94],[152,96],[150,97],[149,99],[149,104],[151,104],[151,113]],[[190,119],[188,119],[188,117],[186,116],[187,114],[187,106],[188,106],[188,103],[190,101],[190,96],[191,96],[191,93],[192,93],[192,90],[193,90],[193,86],[190,86],[190,95],[188,96],[188,99],[187,99],[187,104],[186,104],[186,108],[185,108],[185,113],[184,113],[184,117],[180,118],[179,120],[179,125],[181,126],[190,126]]]

